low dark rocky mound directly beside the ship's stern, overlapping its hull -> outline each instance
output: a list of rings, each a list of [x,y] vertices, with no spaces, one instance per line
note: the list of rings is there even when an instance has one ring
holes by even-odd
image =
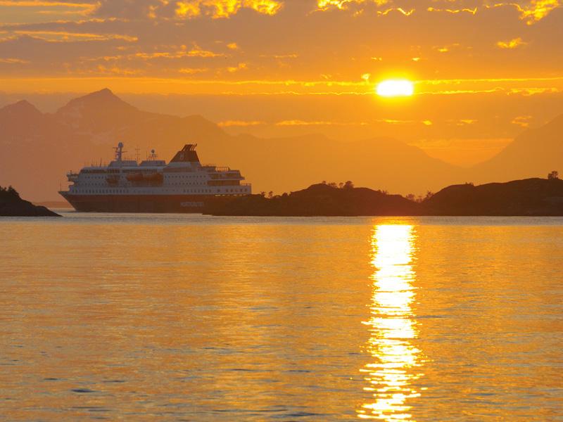
[[[253,216],[355,216],[416,215],[419,204],[400,195],[388,195],[368,188],[336,188],[315,184],[289,195],[265,198],[241,196],[208,207],[213,215]]]

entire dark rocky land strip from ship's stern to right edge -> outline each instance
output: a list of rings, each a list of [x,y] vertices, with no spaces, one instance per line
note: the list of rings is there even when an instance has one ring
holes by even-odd
[[[210,215],[239,216],[563,216],[563,181],[525,179],[453,185],[423,200],[334,184],[315,184],[281,196],[241,196],[215,203]]]

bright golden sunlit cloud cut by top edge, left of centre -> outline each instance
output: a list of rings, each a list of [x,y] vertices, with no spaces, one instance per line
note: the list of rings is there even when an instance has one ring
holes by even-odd
[[[182,0],[176,2],[175,13],[179,18],[198,18],[202,15],[229,18],[242,8],[249,8],[263,15],[275,15],[283,3],[277,0]]]

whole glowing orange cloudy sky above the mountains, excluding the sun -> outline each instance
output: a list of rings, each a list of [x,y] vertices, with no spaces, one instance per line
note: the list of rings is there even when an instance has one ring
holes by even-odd
[[[468,165],[563,113],[559,0],[0,0],[0,106],[109,87],[232,133],[393,136]],[[379,98],[377,82],[415,82]]]

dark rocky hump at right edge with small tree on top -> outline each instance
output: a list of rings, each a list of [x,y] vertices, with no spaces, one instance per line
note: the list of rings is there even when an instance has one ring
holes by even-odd
[[[426,215],[563,215],[563,180],[448,186],[422,204]]]

